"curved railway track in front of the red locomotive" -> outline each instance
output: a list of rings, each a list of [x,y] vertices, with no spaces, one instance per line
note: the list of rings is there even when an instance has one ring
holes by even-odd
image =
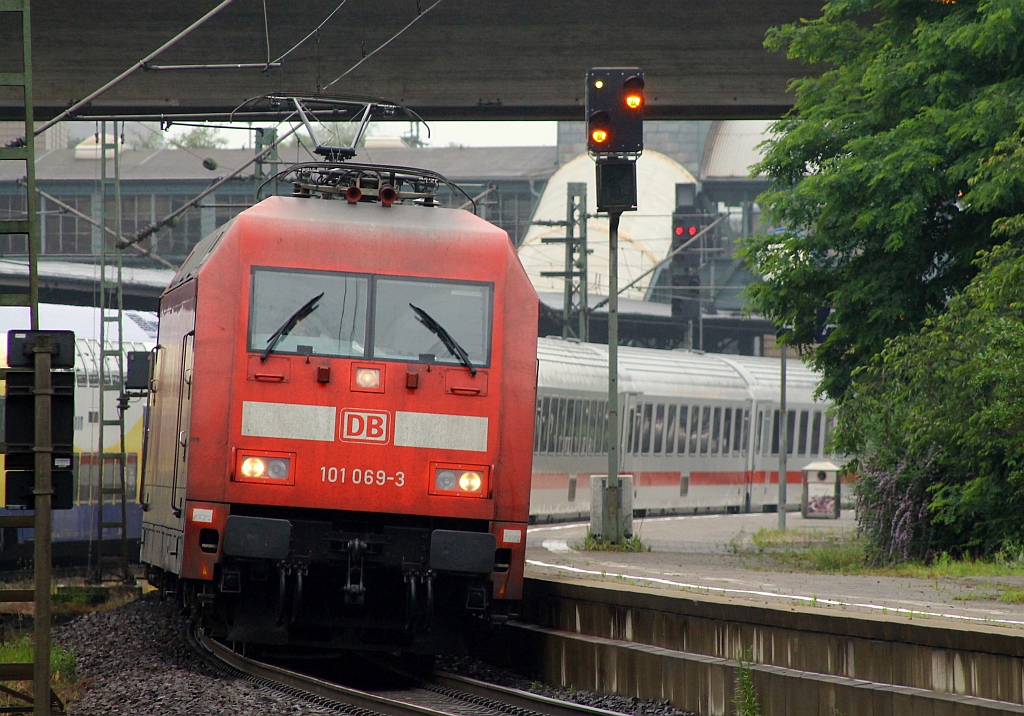
[[[244,657],[205,634],[189,640],[221,671],[350,716],[622,716],[447,673],[362,690]]]

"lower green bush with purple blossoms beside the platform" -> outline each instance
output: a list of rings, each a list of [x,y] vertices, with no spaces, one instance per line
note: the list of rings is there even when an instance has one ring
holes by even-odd
[[[855,373],[841,406],[876,561],[1024,551],[1024,252],[976,264],[944,312]]]

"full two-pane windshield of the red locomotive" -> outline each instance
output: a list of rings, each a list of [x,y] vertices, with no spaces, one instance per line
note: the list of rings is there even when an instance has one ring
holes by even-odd
[[[262,267],[253,270],[249,350],[265,351],[274,333],[321,293],[315,307],[273,344],[274,353],[462,365],[417,319],[412,303],[455,339],[473,366],[489,364],[489,284]]]

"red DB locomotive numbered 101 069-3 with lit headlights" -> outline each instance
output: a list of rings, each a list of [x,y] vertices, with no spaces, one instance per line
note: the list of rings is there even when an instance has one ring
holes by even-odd
[[[435,651],[521,597],[537,295],[436,175],[293,176],[161,298],[142,561],[233,641]]]

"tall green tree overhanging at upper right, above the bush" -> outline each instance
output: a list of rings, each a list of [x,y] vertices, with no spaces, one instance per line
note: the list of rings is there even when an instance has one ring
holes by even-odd
[[[766,45],[813,66],[757,170],[773,233],[741,253],[764,283],[753,307],[813,342],[816,309],[836,330],[810,360],[842,401],[887,339],[918,331],[1024,223],[1024,3],[833,0]]]

